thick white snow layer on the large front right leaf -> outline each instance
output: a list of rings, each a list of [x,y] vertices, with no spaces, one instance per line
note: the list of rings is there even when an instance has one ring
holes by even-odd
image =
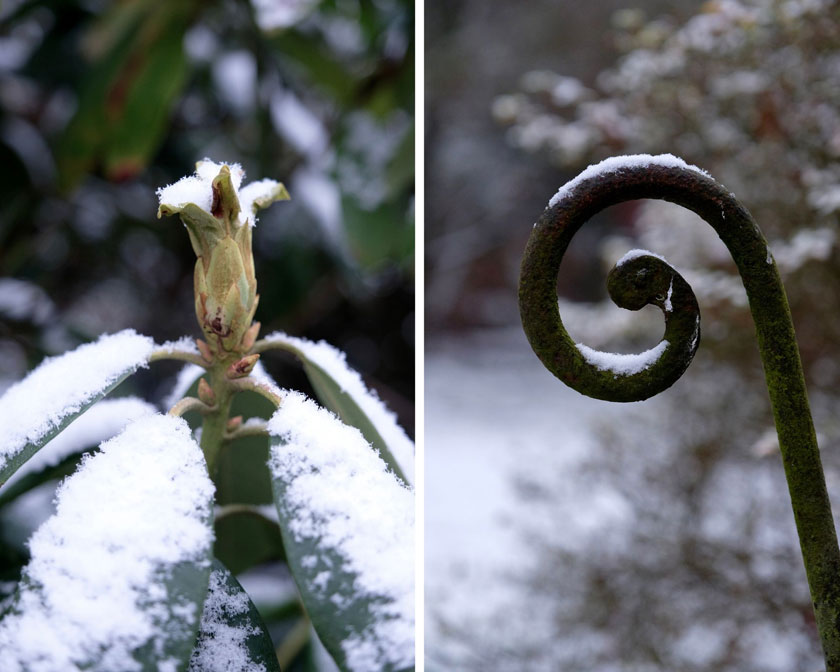
[[[343,558],[351,589],[324,599],[375,599],[376,620],[343,643],[348,669],[400,669],[414,660],[414,496],[361,433],[298,392],[269,421],[284,443],[269,467],[286,487],[289,532]],[[313,558],[313,561],[315,559]],[[328,578],[328,577],[326,577]],[[348,587],[349,588],[349,587]],[[349,593],[349,594],[348,594]]]

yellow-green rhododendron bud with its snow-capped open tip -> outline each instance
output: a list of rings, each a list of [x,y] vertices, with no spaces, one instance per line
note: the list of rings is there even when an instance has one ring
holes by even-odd
[[[251,229],[257,209],[289,198],[286,188],[274,180],[253,182],[240,190],[244,175],[238,164],[199,161],[195,175],[157,192],[158,217],[178,214],[198,257],[195,313],[211,359],[244,353],[253,345],[249,330],[259,297]]]

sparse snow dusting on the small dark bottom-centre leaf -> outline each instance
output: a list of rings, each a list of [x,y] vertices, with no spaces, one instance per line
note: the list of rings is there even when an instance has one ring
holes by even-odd
[[[248,614],[250,605],[243,591],[227,584],[226,569],[214,569],[201,615],[201,627],[190,658],[190,672],[265,672],[265,665],[251,660],[247,641],[260,631],[231,620]]]

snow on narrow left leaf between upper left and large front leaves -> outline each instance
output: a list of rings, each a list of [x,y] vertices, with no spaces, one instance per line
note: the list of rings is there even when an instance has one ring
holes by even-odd
[[[27,474],[54,467],[66,457],[86,448],[98,446],[120,432],[129,422],[154,412],[154,406],[136,397],[98,401],[24,462],[7,484]]]

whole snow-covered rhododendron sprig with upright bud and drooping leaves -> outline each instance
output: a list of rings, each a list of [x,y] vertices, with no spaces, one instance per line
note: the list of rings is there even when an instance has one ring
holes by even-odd
[[[257,209],[288,194],[242,179],[238,165],[203,161],[158,192],[158,215],[180,215],[197,256],[203,340],[103,335],[0,398],[2,504],[104,441],[56,491],[19,583],[4,584],[4,670],[279,670],[248,594],[215,557],[214,518],[232,510],[271,528],[340,669],[413,668],[413,444],[343,353],[279,332],[258,340],[252,230]],[[326,408],[274,383],[258,362],[270,350],[300,360]],[[162,360],[186,362],[165,414],[103,399]],[[232,412],[247,394],[270,419]],[[262,468],[275,506],[214,507],[220,462],[244,459],[252,437],[270,446]]]

